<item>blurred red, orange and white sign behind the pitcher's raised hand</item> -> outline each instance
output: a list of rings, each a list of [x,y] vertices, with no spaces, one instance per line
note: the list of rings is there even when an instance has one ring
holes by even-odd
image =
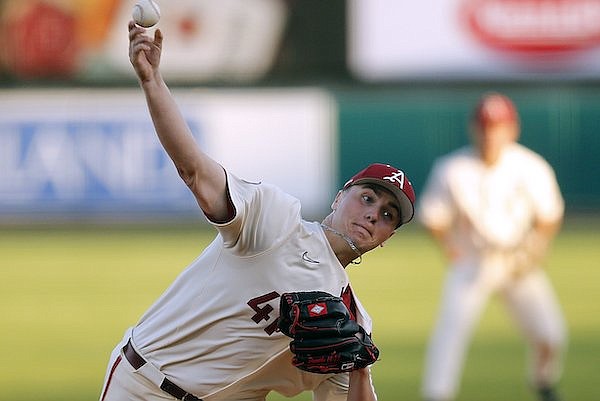
[[[169,81],[261,78],[274,62],[287,5],[274,0],[157,0]],[[127,23],[135,0],[0,1],[0,76],[134,78]],[[153,34],[153,29],[149,30]]]

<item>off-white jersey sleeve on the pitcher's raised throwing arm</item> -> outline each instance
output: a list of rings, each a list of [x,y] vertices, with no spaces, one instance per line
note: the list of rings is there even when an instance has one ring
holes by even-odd
[[[274,185],[249,182],[227,173],[233,219],[213,223],[224,246],[244,255],[270,249],[300,224],[300,202]]]

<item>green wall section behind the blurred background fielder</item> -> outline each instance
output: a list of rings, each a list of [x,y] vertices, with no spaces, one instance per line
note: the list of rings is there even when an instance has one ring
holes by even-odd
[[[600,89],[594,87],[337,91],[340,184],[365,164],[389,162],[406,170],[418,195],[433,159],[467,143],[469,114],[486,90],[513,98],[521,142],[553,165],[567,208],[600,210]]]

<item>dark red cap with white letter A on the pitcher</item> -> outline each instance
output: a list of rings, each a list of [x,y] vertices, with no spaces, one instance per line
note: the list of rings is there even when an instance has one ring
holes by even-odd
[[[400,224],[412,220],[415,214],[415,191],[404,171],[389,164],[374,163],[350,178],[343,189],[357,184],[379,185],[396,196],[400,204]]]

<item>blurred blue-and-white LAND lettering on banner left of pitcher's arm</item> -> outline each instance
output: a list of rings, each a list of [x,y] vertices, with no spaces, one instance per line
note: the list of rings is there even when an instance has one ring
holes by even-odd
[[[186,193],[149,122],[0,124],[0,203],[148,202]]]

